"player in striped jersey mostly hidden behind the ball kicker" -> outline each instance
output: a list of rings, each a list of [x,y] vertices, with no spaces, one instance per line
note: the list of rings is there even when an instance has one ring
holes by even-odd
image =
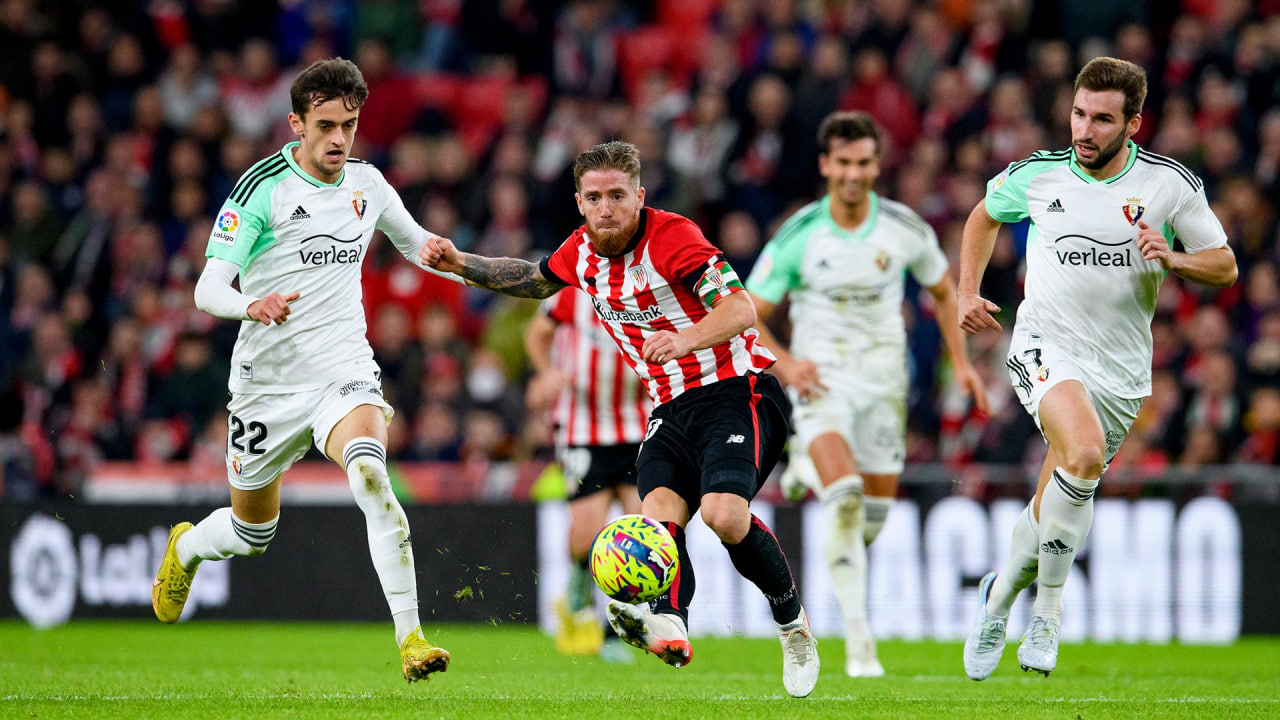
[[[556,648],[627,661],[630,651],[612,629],[609,637],[602,632],[589,562],[614,501],[623,512],[640,512],[635,466],[653,404],[581,293],[566,288],[544,300],[525,331],[525,348],[536,373],[526,405],[550,415],[570,497],[570,578],[557,606]]]

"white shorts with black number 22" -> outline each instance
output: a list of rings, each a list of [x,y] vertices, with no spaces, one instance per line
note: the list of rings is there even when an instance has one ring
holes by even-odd
[[[227,480],[244,491],[271,484],[312,442],[324,452],[334,425],[361,405],[381,407],[388,423],[396,414],[371,373],[306,392],[232,393],[227,404]]]

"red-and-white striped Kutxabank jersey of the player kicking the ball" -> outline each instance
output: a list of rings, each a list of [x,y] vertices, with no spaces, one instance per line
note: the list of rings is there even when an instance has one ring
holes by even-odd
[[[627,252],[605,258],[595,252],[582,225],[543,260],[541,269],[548,278],[586,292],[654,405],[689,388],[760,373],[773,364],[755,328],[677,360],[646,363],[640,355],[645,338],[694,325],[717,297],[744,288],[721,251],[687,218],[644,208],[636,238]]]

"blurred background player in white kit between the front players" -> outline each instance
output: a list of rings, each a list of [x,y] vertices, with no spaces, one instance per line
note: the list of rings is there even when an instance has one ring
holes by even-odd
[[[782,224],[746,290],[760,318],[791,299],[791,347],[763,325],[760,342],[778,356],[773,372],[792,395],[792,465],[812,461],[820,482],[814,489],[827,511],[827,564],[845,616],[845,673],[881,676],[867,625],[867,546],[884,527],[906,454],[908,273],[933,297],[956,382],[983,411],[987,393],[969,364],[933,228],[873,190],[879,133],[870,115],[832,113],[818,145],[827,195]]]

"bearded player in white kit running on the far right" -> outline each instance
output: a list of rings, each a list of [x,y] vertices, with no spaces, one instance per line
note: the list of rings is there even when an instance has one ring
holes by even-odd
[[[1009,377],[1048,455],[1036,497],[1014,523],[1009,559],[979,584],[965,673],[996,670],[1018,593],[1038,582],[1018,648],[1023,670],[1057,665],[1062,585],[1093,523],[1093,495],[1142,400],[1151,395],[1151,319],[1165,275],[1208,287],[1235,282],[1235,255],[1204,186],[1179,163],[1133,142],[1147,74],[1114,58],[1075,78],[1071,147],[1036,152],[987,183],[964,228],[960,327],[1000,329],[978,295],[1002,223],[1030,219],[1027,299],[1018,307]],[[1107,548],[1097,548],[1107,552]]]

